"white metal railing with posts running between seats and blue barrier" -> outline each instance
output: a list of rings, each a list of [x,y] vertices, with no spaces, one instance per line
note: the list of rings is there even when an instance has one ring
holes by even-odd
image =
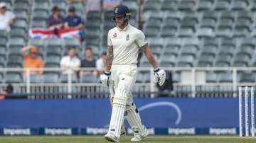
[[[254,82],[238,82],[238,72],[256,71],[256,67],[162,67],[166,71],[171,73],[178,73],[181,80],[174,82],[174,91],[159,91],[156,84],[153,82],[154,71],[149,67],[140,67],[139,73],[146,72],[150,75],[149,82],[136,83],[132,92],[139,97],[154,98],[161,94],[167,96],[237,96],[238,86],[255,86]],[[26,70],[30,73],[32,70],[38,69],[21,69],[21,68],[4,68],[0,69],[0,74],[3,74],[5,78],[6,74],[13,71],[22,74],[22,71]],[[60,68],[43,68],[43,74],[38,75],[38,81],[32,81],[31,78],[34,75],[26,74],[21,77],[23,81],[13,84],[16,94],[32,95],[34,98],[40,96],[63,96],[71,98],[78,96],[91,98],[91,97],[107,97],[108,90],[100,83],[99,75],[95,75],[95,81],[85,82],[82,81],[82,76],[93,76],[93,74],[80,75],[80,77],[74,79],[77,74],[62,74],[63,69]],[[80,71],[93,71],[95,68],[81,68]],[[228,71],[232,74],[232,81],[230,82],[206,82],[206,73],[208,71],[223,72]],[[47,73],[57,73],[59,75],[59,81],[46,82]],[[79,75],[79,74],[78,74]],[[140,76],[140,74],[138,74]],[[65,77],[63,80],[63,77]],[[34,77],[33,77],[34,78]],[[7,81],[2,81],[0,89],[3,89]],[[37,95],[37,96],[35,96]],[[61,98],[60,97],[60,98]]]

